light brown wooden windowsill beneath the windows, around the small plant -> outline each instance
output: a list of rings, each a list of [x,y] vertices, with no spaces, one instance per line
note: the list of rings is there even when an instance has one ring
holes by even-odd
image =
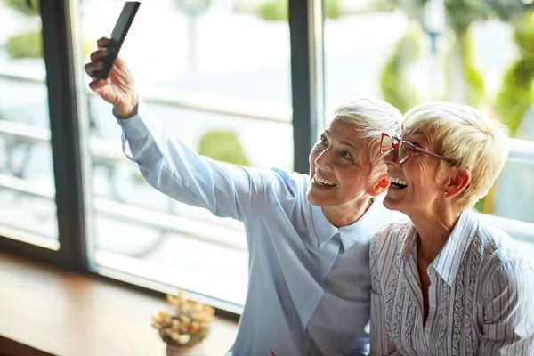
[[[150,324],[167,307],[163,298],[0,252],[2,355],[165,355]],[[217,318],[206,355],[223,355],[236,333],[237,322]]]

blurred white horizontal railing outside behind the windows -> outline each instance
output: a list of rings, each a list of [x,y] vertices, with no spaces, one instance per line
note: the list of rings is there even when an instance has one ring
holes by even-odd
[[[30,77],[13,76],[0,72],[0,80],[13,80],[24,83],[44,85],[44,80]],[[87,91],[93,94],[91,91]],[[274,122],[290,123],[290,113],[269,113],[261,108],[239,108],[228,101],[219,102],[211,99],[192,95],[190,93],[176,92],[173,90],[150,89],[150,93],[140,93],[143,101],[173,106],[176,108],[192,109],[202,112],[212,112],[232,117],[247,117],[249,119],[267,120]],[[209,101],[209,102],[208,102]],[[261,112],[262,114],[258,114]],[[30,144],[49,144],[50,130],[33,125],[12,122],[0,119],[0,134],[16,137],[20,142]],[[89,151],[93,158],[108,161],[113,165],[126,158],[119,149],[117,142],[91,138]],[[508,158],[510,162],[534,165],[534,142],[511,139],[511,150]],[[36,182],[15,178],[0,174],[0,188],[19,191],[35,197],[53,199],[55,192],[50,187],[45,187]],[[203,239],[211,243],[227,247],[245,250],[246,243],[242,239],[242,233],[232,231],[213,224],[195,222],[188,218],[177,217],[172,214],[154,212],[138,206],[131,206],[105,198],[93,198],[93,208],[98,214],[112,216],[122,221],[146,225],[161,231],[171,231],[185,234],[196,239]],[[481,218],[494,223],[502,230],[509,233],[514,239],[534,243],[534,223],[525,223],[514,219],[480,214]]]

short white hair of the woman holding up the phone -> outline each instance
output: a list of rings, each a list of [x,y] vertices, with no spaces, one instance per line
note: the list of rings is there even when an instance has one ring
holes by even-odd
[[[336,118],[356,125],[368,140],[371,174],[368,182],[376,181],[387,174],[387,167],[380,154],[382,133],[399,136],[401,133],[401,111],[385,101],[360,98],[339,106],[334,111]]]

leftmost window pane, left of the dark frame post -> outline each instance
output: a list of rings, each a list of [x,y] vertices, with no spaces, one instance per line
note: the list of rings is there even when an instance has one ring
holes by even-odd
[[[0,1],[0,235],[57,250],[39,9]]]

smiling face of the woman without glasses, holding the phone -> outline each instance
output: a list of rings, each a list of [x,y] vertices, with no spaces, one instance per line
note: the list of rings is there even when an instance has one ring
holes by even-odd
[[[357,125],[336,118],[310,153],[310,186],[306,198],[314,206],[357,206],[368,201],[371,163],[368,139]]]

